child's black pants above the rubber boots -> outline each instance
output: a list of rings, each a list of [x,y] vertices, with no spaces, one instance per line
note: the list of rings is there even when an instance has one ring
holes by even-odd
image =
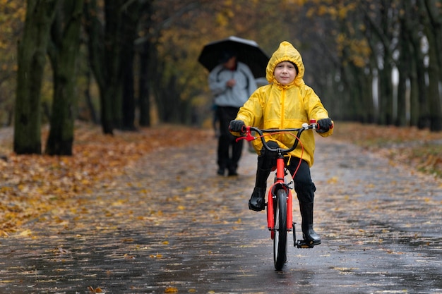
[[[269,142],[270,146],[277,147],[277,144],[275,142]],[[285,157],[285,161],[287,164],[287,161],[289,160],[289,157]],[[266,175],[265,179],[267,179],[268,175],[270,174],[270,170],[273,166],[276,164],[276,152],[269,152],[268,150],[262,149],[261,155],[258,157],[258,173],[256,176],[256,186],[259,186],[261,183],[258,183],[258,181],[262,181],[263,178],[261,175]],[[289,162],[289,166],[287,166],[287,169],[292,174],[294,171],[296,171],[297,166],[299,164],[299,158],[292,157]],[[261,187],[263,187],[261,185]],[[299,203],[313,203],[314,198],[314,192],[316,191],[315,184],[311,180],[311,173],[310,173],[310,166],[307,164],[306,161],[302,160],[301,164],[299,166],[299,169],[294,176],[294,190],[297,192],[297,197],[299,200]]]

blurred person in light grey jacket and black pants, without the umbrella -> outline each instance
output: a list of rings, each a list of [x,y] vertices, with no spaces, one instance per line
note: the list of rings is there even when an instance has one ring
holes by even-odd
[[[224,50],[219,64],[209,73],[209,88],[215,96],[216,116],[220,123],[217,148],[217,174],[237,176],[238,162],[243,149],[242,141],[235,142],[229,133],[229,123],[237,116],[239,108],[256,90],[256,82],[249,66],[237,61],[237,52]]]

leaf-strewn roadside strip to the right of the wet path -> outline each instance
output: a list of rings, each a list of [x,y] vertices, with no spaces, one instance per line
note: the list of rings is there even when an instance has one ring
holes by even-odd
[[[442,178],[442,133],[395,126],[336,123],[335,140],[345,140],[386,157],[390,164]]]

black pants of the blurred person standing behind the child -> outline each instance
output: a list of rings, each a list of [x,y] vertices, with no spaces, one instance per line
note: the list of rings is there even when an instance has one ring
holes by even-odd
[[[217,164],[220,169],[237,171],[238,168],[243,141],[235,142],[236,137],[229,132],[229,123],[237,117],[238,111],[237,107],[217,106],[217,117],[220,120]]]

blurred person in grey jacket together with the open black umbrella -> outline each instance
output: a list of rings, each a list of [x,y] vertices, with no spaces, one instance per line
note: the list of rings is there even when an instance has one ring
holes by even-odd
[[[256,79],[265,77],[269,57],[251,39],[230,36],[205,44],[199,63],[208,69],[208,83],[215,96],[215,118],[219,122],[217,164],[219,175],[237,175],[242,142],[229,133],[229,121],[256,90]],[[230,153],[231,152],[231,153]]]

